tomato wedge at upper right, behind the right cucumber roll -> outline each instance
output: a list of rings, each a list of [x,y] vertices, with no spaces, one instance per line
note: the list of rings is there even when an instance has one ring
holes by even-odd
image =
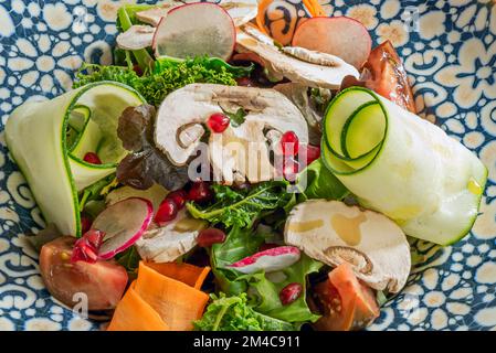
[[[370,52],[359,81],[352,76],[345,78],[341,88],[350,86],[370,88],[400,107],[416,114],[407,71],[390,41],[386,41]]]

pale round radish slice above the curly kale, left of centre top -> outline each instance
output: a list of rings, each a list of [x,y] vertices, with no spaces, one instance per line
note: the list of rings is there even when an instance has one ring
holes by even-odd
[[[229,13],[214,3],[189,3],[169,11],[154,36],[155,55],[179,58],[208,55],[229,60],[236,43]]]

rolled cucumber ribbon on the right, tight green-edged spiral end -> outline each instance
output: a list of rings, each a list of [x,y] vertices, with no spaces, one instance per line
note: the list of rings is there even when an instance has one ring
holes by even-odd
[[[363,207],[413,237],[448,245],[472,228],[487,169],[437,126],[373,92],[351,87],[330,103],[323,160]]]

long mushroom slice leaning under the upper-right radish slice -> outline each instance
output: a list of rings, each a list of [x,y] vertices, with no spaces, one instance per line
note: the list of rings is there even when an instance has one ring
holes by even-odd
[[[337,89],[346,76],[359,77],[358,71],[337,56],[300,47],[281,49],[274,41],[247,23],[238,30],[238,50],[253,52],[276,72],[292,82],[309,87]]]

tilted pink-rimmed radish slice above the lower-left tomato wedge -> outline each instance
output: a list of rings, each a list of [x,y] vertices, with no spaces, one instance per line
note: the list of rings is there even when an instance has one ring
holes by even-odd
[[[101,259],[113,258],[138,240],[154,216],[151,202],[130,197],[105,208],[93,222],[92,228],[105,232],[99,248]]]

